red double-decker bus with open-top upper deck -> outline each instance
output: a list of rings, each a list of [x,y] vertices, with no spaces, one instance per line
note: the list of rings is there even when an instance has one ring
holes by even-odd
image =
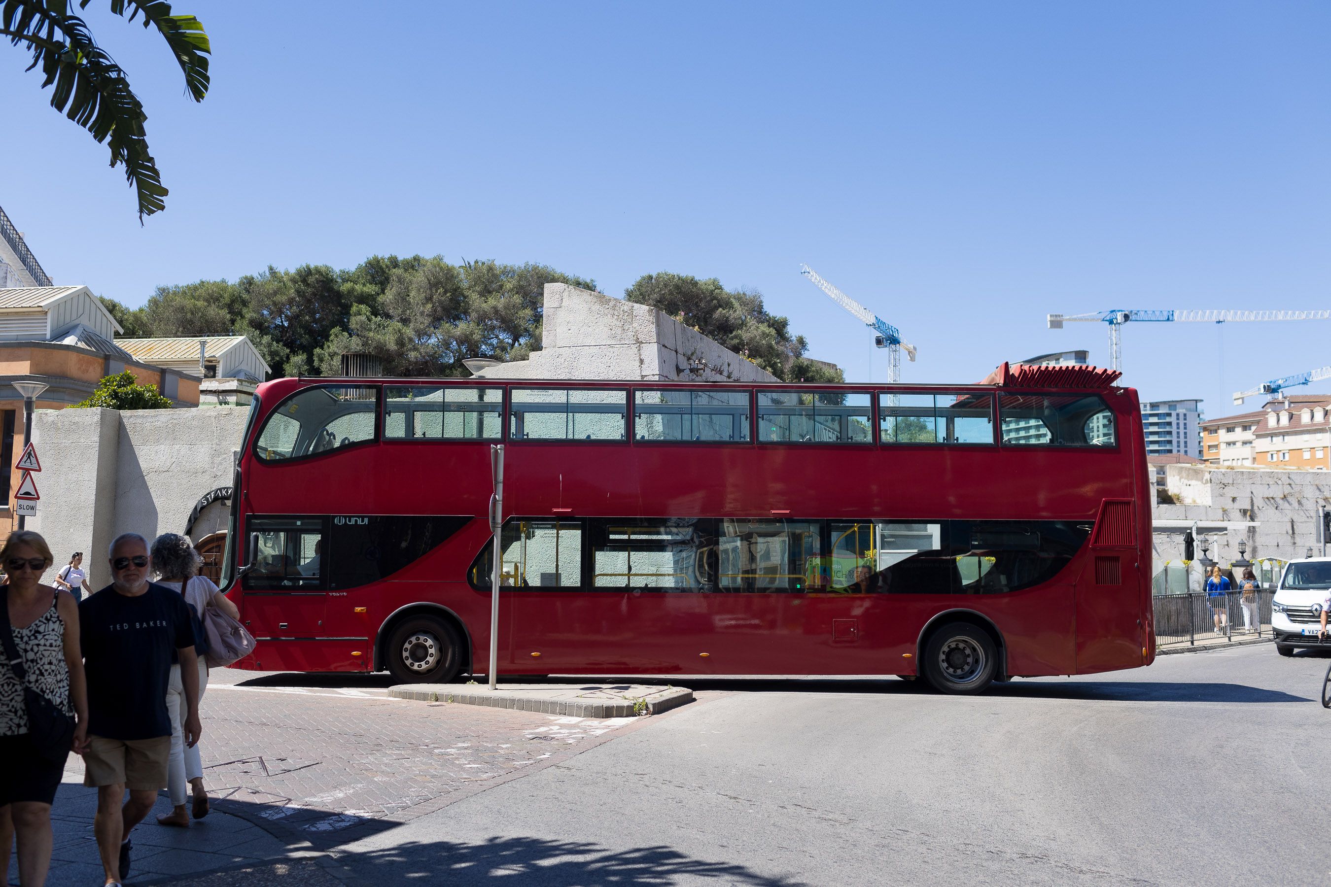
[[[240,668],[483,672],[492,443],[500,674],[898,674],[973,693],[1147,665],[1151,489],[1117,376],[269,382],[224,576],[258,640]]]

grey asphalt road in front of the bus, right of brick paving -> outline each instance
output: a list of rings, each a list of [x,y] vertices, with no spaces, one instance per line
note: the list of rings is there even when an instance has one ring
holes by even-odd
[[[367,883],[1331,883],[1327,664],[1259,645],[980,698],[693,682],[334,855]]]

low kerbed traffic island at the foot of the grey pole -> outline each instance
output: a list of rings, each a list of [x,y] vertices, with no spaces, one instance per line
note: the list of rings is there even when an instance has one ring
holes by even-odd
[[[594,688],[600,690],[602,688]],[[550,698],[550,690],[490,690],[476,689],[471,684],[403,684],[389,688],[394,699],[415,699],[441,705],[479,705],[491,709],[514,711],[538,711],[578,718],[631,718],[643,714],[660,714],[677,709],[693,701],[688,688],[634,688],[638,693],[627,693],[618,699]],[[647,693],[643,693],[647,690]]]

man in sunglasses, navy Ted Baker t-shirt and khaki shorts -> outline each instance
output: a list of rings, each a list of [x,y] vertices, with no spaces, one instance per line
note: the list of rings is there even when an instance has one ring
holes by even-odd
[[[198,742],[201,727],[189,605],[174,590],[148,581],[152,559],[142,536],[117,536],[109,560],[113,582],[79,604],[79,629],[88,676],[84,785],[97,789],[97,850],[106,883],[118,884],[129,874],[129,831],[166,787],[173,652],[189,702],[181,725],[188,745]],[[126,787],[129,801],[121,806]]]

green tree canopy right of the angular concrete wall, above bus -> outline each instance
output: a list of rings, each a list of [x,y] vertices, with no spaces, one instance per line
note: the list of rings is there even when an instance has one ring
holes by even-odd
[[[791,322],[769,314],[756,290],[727,290],[713,278],[644,274],[624,298],[650,305],[787,382],[843,382],[840,371],[804,356],[808,342],[791,335]]]

